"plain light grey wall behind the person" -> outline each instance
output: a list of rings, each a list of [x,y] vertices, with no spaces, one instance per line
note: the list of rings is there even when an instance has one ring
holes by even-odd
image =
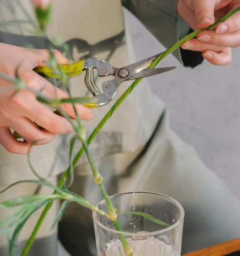
[[[165,50],[125,9],[124,16],[137,60]],[[175,57],[168,56],[161,65],[177,66],[177,69],[147,79],[167,106],[171,129],[192,145],[203,162],[240,199],[239,60],[240,49],[233,49],[233,61],[228,66],[204,61],[192,69],[184,68]],[[68,256],[60,245],[59,252],[60,256]]]

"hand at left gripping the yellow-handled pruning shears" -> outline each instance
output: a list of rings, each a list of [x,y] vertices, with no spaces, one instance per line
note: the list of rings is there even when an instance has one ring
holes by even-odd
[[[54,50],[54,55],[60,64],[67,63],[67,59]],[[0,72],[10,77],[18,74],[25,83],[34,90],[42,90],[42,93],[51,99],[55,96],[67,98],[68,94],[56,88],[45,78],[33,71],[36,66],[45,65],[49,58],[47,50],[29,50],[22,47],[0,43]],[[10,82],[0,78],[0,90],[10,86]],[[26,154],[29,144],[38,141],[38,145],[50,142],[56,133],[69,133],[72,126],[64,118],[54,114],[47,106],[36,100],[36,95],[29,90],[19,91],[12,97],[13,91],[0,92],[0,144],[9,152]],[[72,104],[61,105],[62,109],[72,118],[75,117]],[[80,118],[89,120],[92,112],[81,104],[76,104]],[[34,123],[43,127],[38,128]],[[10,128],[18,132],[24,142],[17,141]]]

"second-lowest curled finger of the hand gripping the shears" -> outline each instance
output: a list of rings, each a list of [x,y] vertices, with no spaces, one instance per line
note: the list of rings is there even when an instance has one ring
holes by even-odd
[[[19,135],[29,144],[36,142],[34,145],[44,145],[52,141],[55,134],[45,130],[39,129],[29,119],[21,117],[17,118],[10,124]]]

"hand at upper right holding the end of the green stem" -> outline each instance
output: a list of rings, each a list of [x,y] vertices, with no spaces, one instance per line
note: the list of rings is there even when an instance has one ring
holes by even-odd
[[[196,30],[206,28],[240,5],[240,0],[178,0],[179,15]],[[240,46],[240,13],[216,26],[213,31],[202,31],[197,39],[182,45],[183,49],[202,51],[203,57],[215,65],[232,61],[232,47]]]

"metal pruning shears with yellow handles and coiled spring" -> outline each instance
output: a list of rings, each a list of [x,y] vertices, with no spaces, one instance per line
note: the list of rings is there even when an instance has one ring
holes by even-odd
[[[87,103],[84,105],[88,107],[98,107],[111,102],[116,96],[120,84],[124,81],[153,76],[175,69],[176,67],[148,68],[161,54],[162,52],[121,68],[115,68],[111,66],[109,62],[95,57],[82,59],[72,64],[60,64],[59,66],[61,66],[61,70],[69,77],[75,77],[84,70],[86,71],[84,79],[85,85],[92,93],[93,97],[89,97]],[[59,69],[59,66],[56,67],[56,69]],[[97,70],[99,77],[114,76],[112,80],[102,83],[102,92],[95,83],[94,69]],[[54,72],[47,66],[36,67],[34,71],[43,77],[60,78],[57,72]]]

